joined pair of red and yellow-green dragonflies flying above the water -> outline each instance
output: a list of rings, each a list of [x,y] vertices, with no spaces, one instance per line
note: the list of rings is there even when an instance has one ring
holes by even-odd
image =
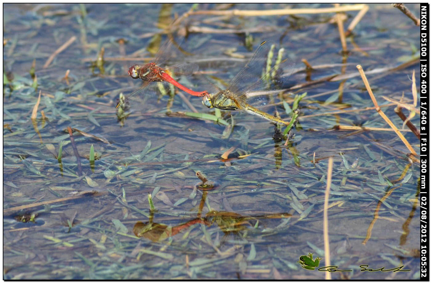
[[[172,44],[172,41],[169,41],[167,45]],[[142,88],[138,89],[134,93],[130,94],[128,99],[136,94],[137,92],[141,92],[143,88],[145,88],[150,82],[169,82],[172,85],[175,85],[179,89],[187,92],[188,94],[191,94],[193,96],[203,97],[202,103],[209,108],[218,108],[222,110],[243,110],[247,113],[250,113],[252,115],[257,115],[259,117],[262,117],[264,119],[268,119],[271,122],[285,125],[287,126],[289,123],[285,122],[284,120],[277,118],[273,115],[270,115],[268,113],[265,113],[256,107],[251,106],[248,103],[248,97],[252,93],[253,90],[256,88],[262,88],[261,85],[265,85],[265,88],[267,89],[265,92],[260,92],[269,94],[271,91],[275,91],[278,88],[278,82],[276,78],[276,72],[278,71],[278,67],[280,65],[280,62],[267,72],[262,72],[263,75],[261,76],[261,79],[252,84],[247,85],[249,83],[250,78],[254,75],[253,72],[256,72],[256,70],[260,70],[263,65],[263,60],[265,59],[265,56],[269,53],[269,49],[271,48],[269,46],[270,44],[267,44],[267,41],[263,41],[259,48],[256,50],[256,52],[253,54],[253,56],[250,58],[248,63],[244,66],[244,68],[234,77],[234,79],[231,80],[231,82],[228,85],[228,88],[225,90],[222,90],[221,88],[218,88],[218,92],[216,94],[210,94],[208,91],[193,91],[189,88],[186,88],[184,85],[181,85],[179,82],[175,81],[175,79],[172,78],[171,69],[172,68],[161,68],[159,67],[158,63],[152,62],[147,63],[143,66],[134,65],[131,66],[128,70],[128,74],[133,79],[142,79],[144,81],[144,85]],[[164,47],[166,49],[168,47]],[[161,49],[162,50],[162,49]],[[161,53],[163,51],[159,51]],[[156,56],[158,58],[159,56]],[[282,61],[281,63],[283,63]],[[269,62],[270,63],[270,62]],[[192,66],[192,67],[191,67]],[[267,64],[268,66],[268,64]],[[270,64],[269,64],[270,66]],[[175,67],[176,69],[181,69],[181,66]],[[184,68],[184,66],[183,66]],[[196,68],[193,67],[193,64],[187,64],[187,67],[184,69],[188,69],[188,72],[193,72]],[[122,102],[119,102],[117,104],[117,108],[121,105]]]

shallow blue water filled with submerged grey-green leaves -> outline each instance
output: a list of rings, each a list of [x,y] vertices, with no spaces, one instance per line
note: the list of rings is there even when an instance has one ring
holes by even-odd
[[[211,4],[197,10],[286,7]],[[408,7],[419,11],[419,5]],[[337,25],[328,23],[333,14],[190,15],[175,33],[181,41],[188,31],[181,43],[187,55],[178,51],[172,61],[199,65],[197,74],[180,77],[193,90],[212,88],[204,76],[225,86],[264,40],[274,42],[276,50],[284,47],[285,57],[296,62],[297,72],[283,70],[291,74],[286,88],[329,75],[352,76],[285,91],[260,105],[289,121],[281,98],[292,107],[292,92],[307,92],[287,146],[272,138],[274,126],[264,119],[240,111],[218,113],[184,92],[184,98],[161,96],[156,83],[134,96],[130,114],[119,120],[119,93],[140,87],[128,77],[128,67],[152,57],[147,47],[157,50],[166,39],[158,36],[162,28],[189,9],[190,4],[3,6],[3,73],[10,81],[3,85],[4,278],[323,279],[324,271],[297,262],[313,253],[313,261],[322,258],[319,267],[352,270],[331,273],[335,279],[418,279],[418,165],[410,165],[409,151],[393,131],[332,128],[389,128],[375,110],[360,110],[373,104],[357,64],[365,71],[387,68],[367,75],[380,105],[389,104],[382,96],[400,100],[403,93],[412,103],[411,77],[419,63],[388,69],[418,56],[419,28],[390,4],[371,5],[347,39],[350,53],[343,60]],[[356,13],[347,12],[345,27]],[[91,68],[101,47],[103,69]],[[346,65],[306,73],[302,58],[312,66]],[[37,89],[30,75],[33,60]],[[194,112],[190,105],[234,126],[184,114]],[[358,111],[324,114],[353,109]],[[401,129],[394,106],[382,109]],[[412,123],[418,125],[418,117]],[[81,169],[68,126],[93,135],[73,133]],[[403,134],[419,151],[415,135]],[[91,145],[100,156],[94,164],[88,160]],[[229,160],[223,159],[232,147]],[[331,156],[326,264],[323,205]],[[214,189],[196,188],[197,171]],[[77,195],[85,191],[92,193]],[[13,209],[22,205],[27,207]],[[359,267],[363,264],[408,271],[370,272]]]

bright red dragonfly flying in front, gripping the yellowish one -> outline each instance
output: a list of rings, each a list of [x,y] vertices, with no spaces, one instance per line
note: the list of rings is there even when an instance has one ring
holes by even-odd
[[[186,63],[181,64],[178,66],[172,66],[172,67],[166,67],[161,68],[159,65],[166,61],[168,57],[172,54],[172,45],[173,41],[169,40],[166,41],[162,47],[160,47],[159,51],[156,53],[155,60],[153,62],[147,63],[143,66],[140,65],[133,65],[129,68],[128,74],[133,79],[142,79],[144,81],[144,84],[141,88],[134,91],[132,94],[130,94],[126,101],[128,101],[133,95],[143,91],[144,88],[146,88],[150,82],[169,82],[172,85],[175,85],[177,88],[181,89],[182,91],[187,92],[188,94],[191,94],[193,96],[203,97],[208,94],[208,91],[193,91],[190,88],[185,87],[184,85],[181,85],[179,82],[177,82],[175,79],[172,78],[172,73],[175,74],[192,74],[197,71],[198,66],[194,63]],[[116,108],[120,106],[122,102],[120,101]]]

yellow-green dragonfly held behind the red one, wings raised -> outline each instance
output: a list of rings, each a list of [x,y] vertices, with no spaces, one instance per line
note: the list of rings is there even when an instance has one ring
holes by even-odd
[[[282,85],[281,79],[276,79],[275,73],[278,66],[275,66],[269,72],[266,72],[258,82],[248,86],[252,79],[256,79],[253,72],[261,70],[263,66],[263,59],[268,54],[270,44],[266,44],[263,41],[256,52],[253,54],[251,59],[245,65],[245,67],[231,80],[228,88],[225,90],[219,89],[219,92],[215,95],[204,94],[202,103],[209,108],[219,108],[223,110],[243,110],[247,113],[260,116],[264,119],[268,119],[271,122],[275,122],[281,125],[288,125],[289,123],[277,118],[273,115],[265,113],[256,107],[251,106],[248,101],[248,96],[253,90],[262,88],[262,84],[267,87],[267,91],[260,91],[260,94],[271,94]],[[284,61],[282,61],[284,62]],[[272,83],[271,83],[272,82]]]

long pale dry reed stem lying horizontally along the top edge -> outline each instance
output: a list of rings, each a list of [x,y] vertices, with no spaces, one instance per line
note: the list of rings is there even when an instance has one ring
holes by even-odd
[[[319,13],[337,13],[362,10],[367,6],[365,4],[345,5],[333,8],[317,9],[272,9],[272,10],[202,10],[195,12],[186,12],[184,17],[190,15],[217,15],[217,16],[280,16],[280,15],[297,15],[297,14],[319,14]]]

